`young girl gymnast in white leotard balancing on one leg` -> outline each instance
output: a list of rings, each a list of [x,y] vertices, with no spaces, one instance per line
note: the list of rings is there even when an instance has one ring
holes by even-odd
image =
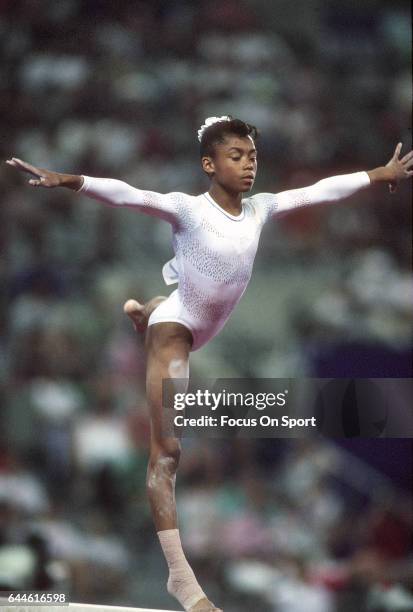
[[[108,178],[51,172],[20,159],[7,163],[29,172],[34,187],[68,187],[112,206],[159,217],[172,226],[175,258],[165,264],[166,284],[179,282],[167,298],[125,303],[135,328],[146,331],[147,400],[151,418],[147,492],[169,567],[168,591],[187,612],[219,612],[199,586],[182,550],[175,505],[180,456],[177,438],[162,436],[162,380],[187,379],[189,353],[225,325],[244,293],[264,223],[299,206],[347,198],[372,183],[394,191],[413,175],[413,151],[400,159],[399,143],[386,164],[368,172],[323,179],[311,187],[243,197],[257,172],[255,127],[230,116],[209,117],[198,131],[202,168],[209,190],[198,196],[161,195]]]

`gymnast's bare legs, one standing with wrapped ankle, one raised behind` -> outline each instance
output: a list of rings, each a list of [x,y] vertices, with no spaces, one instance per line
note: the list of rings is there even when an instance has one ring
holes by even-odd
[[[144,331],[150,314],[164,299],[153,298],[147,304],[128,300],[124,311],[132,319],[135,329]],[[156,531],[169,567],[169,593],[187,612],[221,612],[202,591],[183,553],[175,503],[175,479],[181,446],[177,438],[162,435],[162,424],[165,423],[162,380],[188,378],[191,346],[191,332],[179,323],[156,323],[147,328],[146,392],[151,418],[147,492]]]

